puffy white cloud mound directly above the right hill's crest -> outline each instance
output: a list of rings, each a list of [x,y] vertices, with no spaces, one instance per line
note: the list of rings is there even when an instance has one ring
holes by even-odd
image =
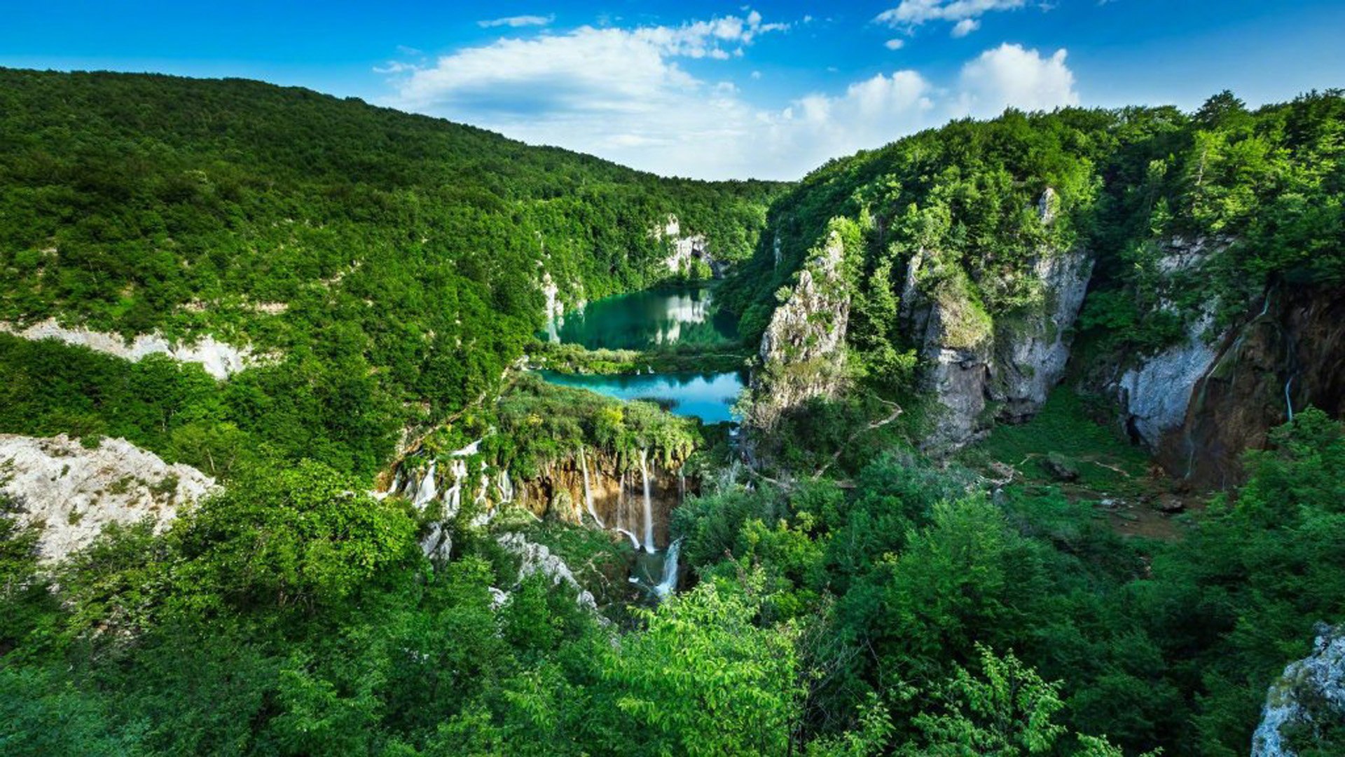
[[[1065,65],[1065,55],[1061,48],[1042,58],[1036,50],[1009,43],[986,50],[962,67],[958,109],[987,117],[1010,105],[1024,110],[1079,105],[1075,74]]]

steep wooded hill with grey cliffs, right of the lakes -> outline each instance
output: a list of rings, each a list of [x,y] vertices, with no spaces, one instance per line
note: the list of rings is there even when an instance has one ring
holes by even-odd
[[[794,185],[720,302],[767,331],[834,240],[849,368],[792,366],[803,393],[932,400],[915,434],[955,449],[1030,418],[1068,362],[1165,467],[1223,486],[1293,408],[1345,408],[1342,129],[1340,90],[954,121]]]

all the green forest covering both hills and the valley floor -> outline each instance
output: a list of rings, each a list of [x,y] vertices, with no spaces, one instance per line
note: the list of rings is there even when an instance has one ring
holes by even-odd
[[[0,333],[0,434],[124,438],[223,485],[58,563],[0,497],[0,754],[1247,754],[1267,687],[1345,622],[1345,423],[1291,405],[1243,481],[1192,490],[1092,374],[1209,303],[1231,325],[1268,291],[1338,296],[1342,152],[1340,92],[1223,93],[707,183],[303,89],[0,69],[0,321],[265,356],[221,380]],[[730,264],[716,302],[741,343],[538,338],[543,273],[565,306],[675,279],[651,233],[670,214]],[[845,391],[753,439],[757,465],[737,431],[525,369],[741,368],[831,232]],[[1231,240],[1198,287],[1158,264],[1197,236]],[[1063,384],[923,451],[904,271],[929,256],[921,287],[1006,322],[1044,307],[1044,248],[1095,255]],[[429,555],[445,513],[371,489],[460,449],[519,481],[585,449],[681,466],[677,593],[633,594],[624,537],[510,505],[464,505]],[[1174,493],[1178,516],[1103,508]],[[523,575],[511,532],[578,585]],[[1345,715],[1291,742],[1342,754]]]

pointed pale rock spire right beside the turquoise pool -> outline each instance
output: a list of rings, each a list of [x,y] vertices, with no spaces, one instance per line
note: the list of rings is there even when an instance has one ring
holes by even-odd
[[[771,315],[751,378],[752,403],[744,419],[749,427],[769,430],[785,411],[841,388],[850,321],[843,263],[845,242],[833,228]]]

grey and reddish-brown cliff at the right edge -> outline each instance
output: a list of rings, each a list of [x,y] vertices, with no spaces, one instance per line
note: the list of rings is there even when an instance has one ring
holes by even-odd
[[[1235,240],[1173,237],[1155,259],[1161,307],[1198,287]],[[1186,315],[1176,343],[1126,356],[1106,389],[1130,436],[1173,475],[1197,488],[1243,480],[1241,454],[1309,404],[1345,414],[1345,299],[1330,287],[1272,284],[1227,326],[1206,300]]]

